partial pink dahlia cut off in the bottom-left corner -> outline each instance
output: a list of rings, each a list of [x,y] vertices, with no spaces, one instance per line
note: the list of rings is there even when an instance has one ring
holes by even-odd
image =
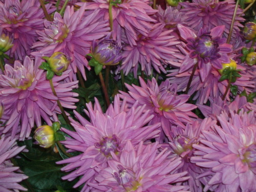
[[[0,139],[0,191],[19,191],[27,190],[18,182],[27,179],[28,177],[20,172],[19,167],[14,167],[10,158],[22,152],[25,146],[19,147],[16,145],[15,139],[3,137]]]

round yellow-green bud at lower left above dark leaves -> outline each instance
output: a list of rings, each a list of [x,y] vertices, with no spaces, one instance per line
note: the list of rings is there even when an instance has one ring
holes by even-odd
[[[49,125],[38,126],[35,130],[34,139],[41,147],[49,148],[55,143],[55,132]]]

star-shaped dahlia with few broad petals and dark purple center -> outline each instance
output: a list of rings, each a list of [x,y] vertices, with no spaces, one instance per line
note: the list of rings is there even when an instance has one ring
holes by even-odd
[[[222,69],[222,62],[229,63],[227,53],[232,52],[232,46],[222,38],[225,26],[218,26],[207,32],[201,28],[196,35],[192,30],[178,25],[180,36],[187,42],[189,54],[184,58],[179,73],[187,71],[198,62],[200,78],[205,80],[212,67]]]

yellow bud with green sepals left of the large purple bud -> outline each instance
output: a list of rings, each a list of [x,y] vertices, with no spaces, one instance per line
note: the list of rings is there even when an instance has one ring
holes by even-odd
[[[53,53],[52,56],[48,58],[47,62],[49,63],[51,71],[56,75],[61,75],[63,71],[68,69],[70,64],[70,60],[61,52]]]

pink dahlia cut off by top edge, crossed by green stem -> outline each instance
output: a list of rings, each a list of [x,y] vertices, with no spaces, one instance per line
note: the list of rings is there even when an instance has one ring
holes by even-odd
[[[149,15],[157,12],[151,6],[147,5],[149,0],[131,0],[131,1],[112,1],[113,16],[113,38],[119,44],[124,39],[130,46],[135,46],[139,34],[147,36],[148,31],[152,29],[151,22],[156,20]],[[86,4],[87,10],[97,12],[97,17],[109,21],[109,1],[93,0],[93,2],[78,3],[82,6]]]

